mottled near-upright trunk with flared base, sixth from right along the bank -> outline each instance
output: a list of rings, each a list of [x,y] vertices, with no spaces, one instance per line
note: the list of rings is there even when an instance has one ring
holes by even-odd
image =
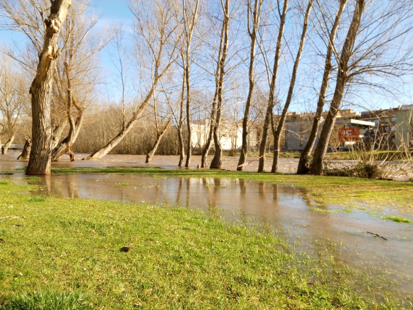
[[[216,104],[216,120],[214,124],[213,137],[214,137],[214,147],[215,154],[214,158],[211,161],[210,169],[220,169],[222,165],[222,147],[219,135],[219,126],[221,122],[221,107],[222,107],[222,93],[223,85],[225,78],[225,58],[228,53],[228,36],[229,36],[229,21],[230,21],[230,12],[229,12],[229,0],[225,0],[224,10],[224,19],[222,23],[222,32],[221,32],[221,41],[222,41],[222,53],[221,58],[218,58],[219,67],[219,78],[216,79],[216,88],[217,88],[217,104]]]

